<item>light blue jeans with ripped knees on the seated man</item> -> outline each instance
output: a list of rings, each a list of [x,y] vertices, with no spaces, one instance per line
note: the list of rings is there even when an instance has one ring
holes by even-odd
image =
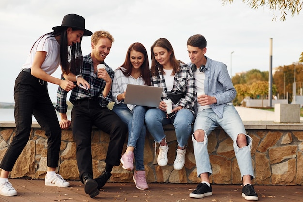
[[[241,179],[244,175],[254,177],[250,153],[252,138],[246,134],[242,120],[232,104],[226,104],[224,106],[222,118],[219,118],[211,108],[204,109],[197,114],[194,131],[201,129],[204,130],[206,134],[203,142],[197,142],[194,136],[192,136],[198,176],[202,173],[212,173],[210,158],[207,151],[207,137],[218,126],[221,126],[234,142],[233,147],[240,168]],[[246,135],[248,144],[248,146],[243,148],[239,148],[237,145],[237,137],[238,134],[241,133]]]

